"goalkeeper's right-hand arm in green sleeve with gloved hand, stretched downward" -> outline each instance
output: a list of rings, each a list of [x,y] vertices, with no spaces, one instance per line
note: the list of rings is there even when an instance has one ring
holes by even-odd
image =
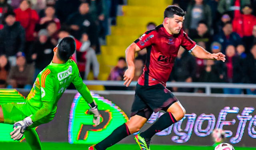
[[[94,99],[92,98],[92,95],[90,93],[90,90],[88,87],[83,83],[82,78],[80,77],[78,67],[76,65],[76,69],[74,71],[76,73],[72,83],[75,85],[77,91],[82,95],[84,100],[88,103],[90,110],[89,114],[93,114],[93,123],[98,126],[100,124],[100,113],[98,111],[98,106]]]

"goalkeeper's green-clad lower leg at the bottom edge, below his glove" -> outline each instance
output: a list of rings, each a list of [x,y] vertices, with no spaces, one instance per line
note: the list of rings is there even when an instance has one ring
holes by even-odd
[[[28,128],[24,132],[24,136],[26,138],[26,142],[28,142],[32,150],[42,150],[40,139],[34,128]]]

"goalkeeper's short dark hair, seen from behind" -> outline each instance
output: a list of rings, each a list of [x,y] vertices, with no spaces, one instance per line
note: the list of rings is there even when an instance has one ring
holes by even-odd
[[[57,57],[66,62],[76,51],[76,42],[72,37],[65,37],[60,41],[57,47]]]

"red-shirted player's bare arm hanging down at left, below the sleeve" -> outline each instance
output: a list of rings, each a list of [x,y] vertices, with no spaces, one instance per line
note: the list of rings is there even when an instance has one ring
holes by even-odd
[[[126,63],[128,66],[128,69],[124,73],[124,85],[126,85],[126,87],[130,85],[134,77],[134,57],[135,53],[140,50],[140,47],[138,47],[136,43],[132,43],[125,51]]]

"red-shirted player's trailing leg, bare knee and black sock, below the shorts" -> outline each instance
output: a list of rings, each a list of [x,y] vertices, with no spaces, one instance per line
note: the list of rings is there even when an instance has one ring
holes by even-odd
[[[121,126],[118,126],[108,137],[96,144],[96,150],[105,150],[106,148],[116,144],[126,136],[138,132],[140,128],[146,123],[147,119],[134,115],[130,120]]]

